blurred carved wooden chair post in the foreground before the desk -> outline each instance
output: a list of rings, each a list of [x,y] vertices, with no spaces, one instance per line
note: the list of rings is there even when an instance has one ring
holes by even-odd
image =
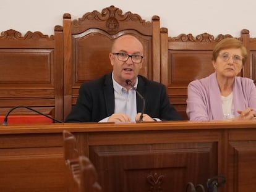
[[[75,136],[69,131],[63,131],[64,159],[69,167],[72,178],[77,183],[79,192],[100,192],[101,186],[97,182],[97,173],[90,159],[79,156]]]

